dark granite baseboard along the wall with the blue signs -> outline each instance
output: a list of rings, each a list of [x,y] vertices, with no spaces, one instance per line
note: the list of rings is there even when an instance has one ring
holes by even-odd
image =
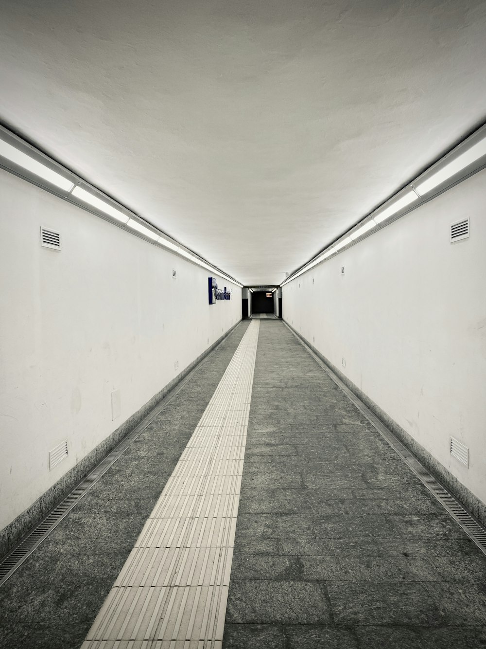
[[[115,446],[128,435],[156,406],[167,397],[168,393],[189,374],[196,365],[210,354],[213,349],[227,337],[241,323],[233,325],[223,336],[219,337],[213,345],[208,347],[198,358],[181,371],[167,386],[157,392],[154,397],[146,402],[131,417],[124,421],[121,426],[114,430],[97,447],[93,448],[75,467],[52,485],[43,495],[40,496],[29,508],[25,509],[16,519],[12,520],[3,530],[0,530],[0,557],[5,556],[14,548],[27,533],[30,532],[44,517],[64,498],[80,480],[82,480]]]

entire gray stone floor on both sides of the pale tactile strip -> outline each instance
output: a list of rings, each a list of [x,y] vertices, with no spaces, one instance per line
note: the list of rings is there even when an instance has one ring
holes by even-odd
[[[80,646],[248,324],[0,588],[0,648]],[[486,557],[263,319],[224,648],[476,649],[485,625]]]

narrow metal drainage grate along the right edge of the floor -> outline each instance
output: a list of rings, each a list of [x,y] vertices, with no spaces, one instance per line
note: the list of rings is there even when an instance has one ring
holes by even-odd
[[[286,325],[288,326],[288,324]],[[354,406],[366,417],[366,419],[376,428],[378,433],[389,443],[391,448],[399,454],[400,458],[410,467],[411,471],[415,473],[417,478],[427,487],[427,489],[432,493],[432,495],[437,498],[443,508],[449,513],[449,515],[461,526],[469,538],[476,543],[481,552],[486,554],[486,528],[481,525],[480,521],[477,520],[466,508],[455,498],[448,489],[444,487],[443,484],[435,478],[434,475],[424,465],[419,459],[417,459],[413,453],[408,450],[408,448],[400,442],[398,437],[396,437],[391,430],[389,430],[385,424],[376,417],[367,406],[358,398],[356,395],[347,387],[341,379],[334,374],[334,372],[327,367],[327,365],[321,361],[317,354],[314,354],[312,349],[308,347],[292,328],[288,327],[292,334],[297,338],[297,340],[303,345],[307,352],[314,358],[314,360],[322,367],[322,369],[329,375],[334,383],[341,388],[343,393],[353,402]]]

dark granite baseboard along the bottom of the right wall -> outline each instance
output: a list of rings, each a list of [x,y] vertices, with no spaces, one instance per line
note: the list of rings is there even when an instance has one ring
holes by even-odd
[[[358,386],[356,386],[353,381],[349,380],[349,378],[343,374],[338,367],[333,365],[321,352],[319,352],[312,343],[310,343],[304,336],[302,336],[298,331],[294,329],[293,326],[291,326],[286,320],[284,320],[284,323],[288,326],[288,328],[294,332],[295,336],[299,337],[308,347],[311,349],[316,356],[318,356],[327,367],[329,367],[334,374],[336,374],[341,381],[349,387],[349,389],[356,395],[356,397],[360,398],[362,402],[373,412],[380,421],[382,421],[385,426],[391,432],[398,437],[398,439],[417,457],[422,464],[430,471],[434,476],[442,482],[445,487],[454,495],[457,500],[459,500],[465,508],[469,509],[470,513],[474,515],[478,520],[480,520],[481,524],[486,526],[486,503],[484,503],[478,496],[474,495],[472,491],[470,491],[465,485],[463,485],[459,480],[457,480],[456,476],[453,476],[446,467],[441,464],[434,456],[428,452],[424,447],[422,447],[421,444],[419,444],[413,437],[410,435],[410,433],[406,432],[402,426],[397,424],[396,421],[394,421],[388,413],[386,413],[384,410],[378,406],[371,398],[369,398]]]

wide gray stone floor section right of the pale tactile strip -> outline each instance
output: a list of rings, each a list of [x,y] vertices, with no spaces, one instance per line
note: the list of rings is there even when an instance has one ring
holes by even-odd
[[[262,320],[224,649],[476,649],[485,625],[486,557]]]

